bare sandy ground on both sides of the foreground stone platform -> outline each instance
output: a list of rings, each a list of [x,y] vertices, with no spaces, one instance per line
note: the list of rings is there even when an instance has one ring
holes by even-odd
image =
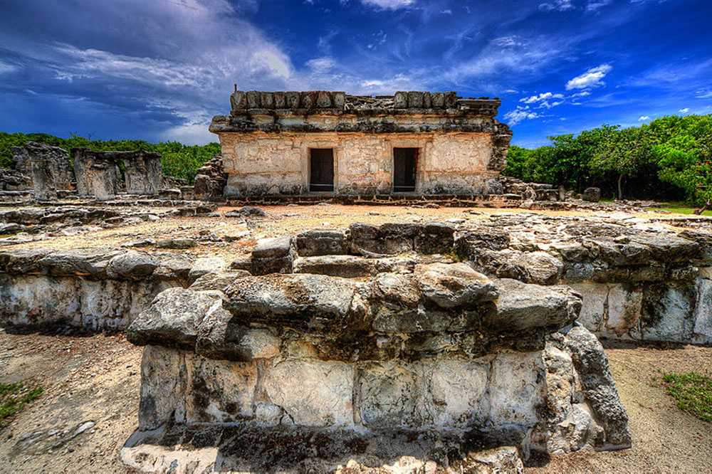
[[[656,382],[659,371],[710,374],[712,348],[615,342],[607,344],[607,353],[630,416],[633,448],[538,459],[526,472],[712,472],[712,423],[680,411]],[[122,335],[0,332],[0,381],[34,377],[46,387],[41,399],[0,431],[0,470],[132,472],[118,455],[137,426],[140,354]],[[95,425],[72,438],[88,421]]]

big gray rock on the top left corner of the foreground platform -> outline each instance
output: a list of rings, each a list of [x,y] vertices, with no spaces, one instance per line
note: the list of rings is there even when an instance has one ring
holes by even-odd
[[[211,308],[222,304],[220,292],[196,292],[169,288],[129,326],[126,339],[145,346],[159,344],[193,350],[198,327]]]

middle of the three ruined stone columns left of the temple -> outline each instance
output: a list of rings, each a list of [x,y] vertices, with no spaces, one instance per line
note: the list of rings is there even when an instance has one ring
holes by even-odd
[[[88,148],[71,149],[79,196],[113,199],[118,190],[119,167],[110,152],[94,152]]]

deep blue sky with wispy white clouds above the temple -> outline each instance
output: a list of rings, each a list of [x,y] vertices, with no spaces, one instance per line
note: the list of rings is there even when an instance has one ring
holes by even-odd
[[[708,0],[1,0],[0,131],[216,141],[242,90],[502,98],[513,144],[712,112]]]

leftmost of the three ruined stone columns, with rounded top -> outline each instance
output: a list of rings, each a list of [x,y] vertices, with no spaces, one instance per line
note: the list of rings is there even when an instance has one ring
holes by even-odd
[[[31,166],[35,199],[53,199],[58,189],[69,189],[71,171],[69,155],[60,147],[37,142],[27,142],[26,156]]]

